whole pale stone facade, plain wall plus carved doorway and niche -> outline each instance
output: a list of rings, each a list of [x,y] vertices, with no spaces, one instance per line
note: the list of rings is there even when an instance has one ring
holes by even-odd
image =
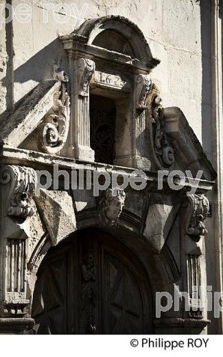
[[[202,66],[211,62],[200,26],[218,4],[108,3],[109,10],[91,1],[91,16],[73,30],[72,19],[56,23],[52,13],[39,28],[45,9],[34,1],[34,27],[24,24],[23,36],[16,21],[4,28],[0,330],[221,332],[195,291],[217,289],[211,260],[221,277],[211,218],[220,194],[212,194],[215,146],[204,134],[213,102],[206,94],[203,103],[202,93],[211,85]],[[40,170],[52,178],[48,187]],[[119,176],[136,179],[136,170],[145,186],[123,188]],[[202,176],[180,187],[176,173],[186,170]],[[99,196],[94,175],[104,186]],[[103,175],[115,175],[119,189],[105,187]],[[174,297],[176,286],[188,293],[189,309],[180,299],[176,311],[157,317],[156,292]]]

